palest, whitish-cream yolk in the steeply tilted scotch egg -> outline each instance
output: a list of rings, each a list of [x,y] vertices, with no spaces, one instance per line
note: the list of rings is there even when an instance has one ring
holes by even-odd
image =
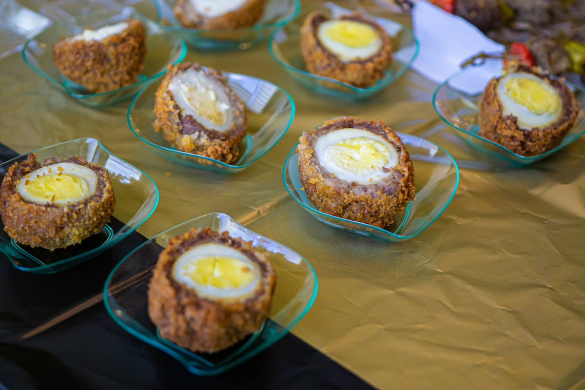
[[[186,101],[201,118],[213,123],[215,126],[225,125],[228,105],[219,101],[212,89],[201,85],[186,85],[180,87],[181,97]]]

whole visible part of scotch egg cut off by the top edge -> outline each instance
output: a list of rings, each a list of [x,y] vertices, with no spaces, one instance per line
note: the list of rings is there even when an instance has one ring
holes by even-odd
[[[178,0],[173,7],[183,27],[203,30],[252,27],[262,16],[266,0]]]

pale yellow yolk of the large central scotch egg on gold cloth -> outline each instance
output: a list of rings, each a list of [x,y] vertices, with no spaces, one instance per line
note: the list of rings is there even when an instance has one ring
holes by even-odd
[[[337,141],[327,147],[325,155],[340,168],[358,175],[379,170],[390,160],[383,143],[366,137]]]

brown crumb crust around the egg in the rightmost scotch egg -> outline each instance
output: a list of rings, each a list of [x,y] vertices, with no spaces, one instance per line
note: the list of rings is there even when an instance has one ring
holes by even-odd
[[[554,149],[563,137],[573,128],[579,114],[579,102],[563,80],[556,80],[544,73],[540,68],[512,64],[506,73],[525,72],[536,75],[559,92],[562,101],[562,112],[559,119],[546,127],[522,129],[518,118],[505,115],[498,99],[497,85],[500,78],[493,78],[481,95],[479,128],[481,136],[507,147],[520,156],[537,156]]]

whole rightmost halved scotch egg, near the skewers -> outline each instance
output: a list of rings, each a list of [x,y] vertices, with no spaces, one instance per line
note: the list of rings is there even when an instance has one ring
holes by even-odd
[[[579,102],[562,80],[517,63],[491,80],[481,95],[481,136],[521,156],[554,149],[572,129]]]

